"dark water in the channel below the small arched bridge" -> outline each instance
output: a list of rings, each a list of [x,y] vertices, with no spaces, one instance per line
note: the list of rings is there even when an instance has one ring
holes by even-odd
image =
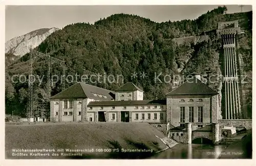
[[[218,158],[228,145],[178,144],[173,148],[157,153],[152,159],[201,159]]]

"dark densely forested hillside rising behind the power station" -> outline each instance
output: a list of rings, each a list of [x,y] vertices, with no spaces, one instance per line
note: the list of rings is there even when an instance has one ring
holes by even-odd
[[[124,76],[124,83],[132,81],[144,90],[144,99],[161,99],[181,81],[167,83],[155,82],[155,72],[160,80],[163,75],[187,75],[200,72],[208,76],[210,73],[221,73],[220,49],[221,42],[214,33],[209,34],[209,40],[197,43],[184,42],[177,44],[172,39],[185,36],[200,36],[217,28],[219,21],[239,19],[240,26],[245,31],[241,37],[241,52],[245,61],[245,71],[251,72],[251,18],[252,12],[238,14],[223,14],[226,7],[209,11],[196,20],[167,21],[156,23],[136,15],[115,14],[96,21],[94,24],[75,23],[67,25],[62,30],[51,34],[36,49],[50,54],[54,58],[65,60],[66,75],[83,74],[83,69],[107,75]],[[248,21],[250,20],[250,21]],[[10,62],[8,62],[10,63]],[[12,83],[10,76],[29,73],[29,53],[22,59],[12,63],[6,69],[6,113],[22,113],[27,104],[27,83]],[[47,75],[47,65],[39,60],[34,65],[35,73]],[[58,64],[52,66],[52,74],[61,74]],[[146,73],[145,78],[138,74]],[[251,78],[251,76],[250,76]],[[177,84],[175,84],[177,83]],[[66,88],[75,84],[66,83]],[[208,84],[208,83],[207,83]],[[97,84],[99,87],[115,90],[119,84]],[[209,84],[217,91],[221,90],[221,82]],[[39,107],[49,106],[44,84],[34,86],[35,99]],[[52,84],[52,94],[61,90],[59,82]],[[15,103],[15,104],[14,104]],[[16,106],[17,105],[17,106]]]

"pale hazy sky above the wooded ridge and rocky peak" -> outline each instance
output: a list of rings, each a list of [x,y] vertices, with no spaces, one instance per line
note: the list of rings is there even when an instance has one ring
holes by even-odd
[[[135,14],[155,22],[196,19],[223,5],[159,6],[6,6],[5,41],[41,28],[62,28],[76,22],[94,23],[112,14]],[[243,12],[252,6],[243,7]],[[238,5],[227,5],[227,13],[241,12]]]

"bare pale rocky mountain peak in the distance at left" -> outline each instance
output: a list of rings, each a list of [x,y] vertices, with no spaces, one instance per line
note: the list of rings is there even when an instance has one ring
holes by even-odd
[[[32,31],[26,35],[18,36],[5,43],[5,53],[12,53],[15,56],[24,56],[30,49],[37,47],[53,32],[59,30],[56,27],[44,28]]]

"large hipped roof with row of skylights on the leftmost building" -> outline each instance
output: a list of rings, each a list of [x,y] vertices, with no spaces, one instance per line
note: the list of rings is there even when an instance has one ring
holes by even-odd
[[[115,99],[115,92],[77,82],[73,86],[61,91],[60,93],[50,98],[92,98],[96,100],[113,100]]]

